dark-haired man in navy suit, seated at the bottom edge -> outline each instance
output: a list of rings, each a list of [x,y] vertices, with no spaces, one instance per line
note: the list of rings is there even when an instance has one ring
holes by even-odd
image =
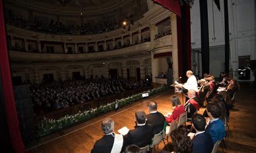
[[[196,129],[196,134],[192,139],[193,152],[207,153],[212,152],[213,141],[209,134],[205,133],[205,118],[201,114],[194,114],[192,116],[192,126]]]

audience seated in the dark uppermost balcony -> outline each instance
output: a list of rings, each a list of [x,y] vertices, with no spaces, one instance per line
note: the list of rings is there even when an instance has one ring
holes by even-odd
[[[7,13],[6,18],[7,24],[21,29],[60,35],[94,35],[121,28],[121,21],[116,21],[116,19],[109,19],[101,23],[97,22],[96,24],[68,25],[53,20],[45,23],[40,21],[36,16],[34,21],[30,21],[23,16],[15,15],[12,11]]]

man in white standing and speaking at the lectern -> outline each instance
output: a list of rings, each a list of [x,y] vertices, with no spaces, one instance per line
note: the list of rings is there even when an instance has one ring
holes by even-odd
[[[196,77],[193,75],[193,72],[191,70],[187,71],[187,83],[185,84],[178,84],[176,87],[183,87],[187,90],[189,89],[193,89],[197,92],[198,88],[197,88],[197,81],[196,81]]]

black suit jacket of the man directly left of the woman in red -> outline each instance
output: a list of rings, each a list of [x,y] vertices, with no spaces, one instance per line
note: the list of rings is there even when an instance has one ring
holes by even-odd
[[[158,134],[163,130],[163,125],[165,124],[165,116],[160,112],[155,112],[146,115],[147,124],[151,124],[154,129],[154,134]]]

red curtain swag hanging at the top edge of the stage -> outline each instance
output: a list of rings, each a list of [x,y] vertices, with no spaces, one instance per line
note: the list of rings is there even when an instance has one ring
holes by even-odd
[[[171,12],[175,13],[176,15],[181,16],[179,0],[153,0],[153,1],[163,5],[163,7],[166,7],[167,9],[171,10]]]

